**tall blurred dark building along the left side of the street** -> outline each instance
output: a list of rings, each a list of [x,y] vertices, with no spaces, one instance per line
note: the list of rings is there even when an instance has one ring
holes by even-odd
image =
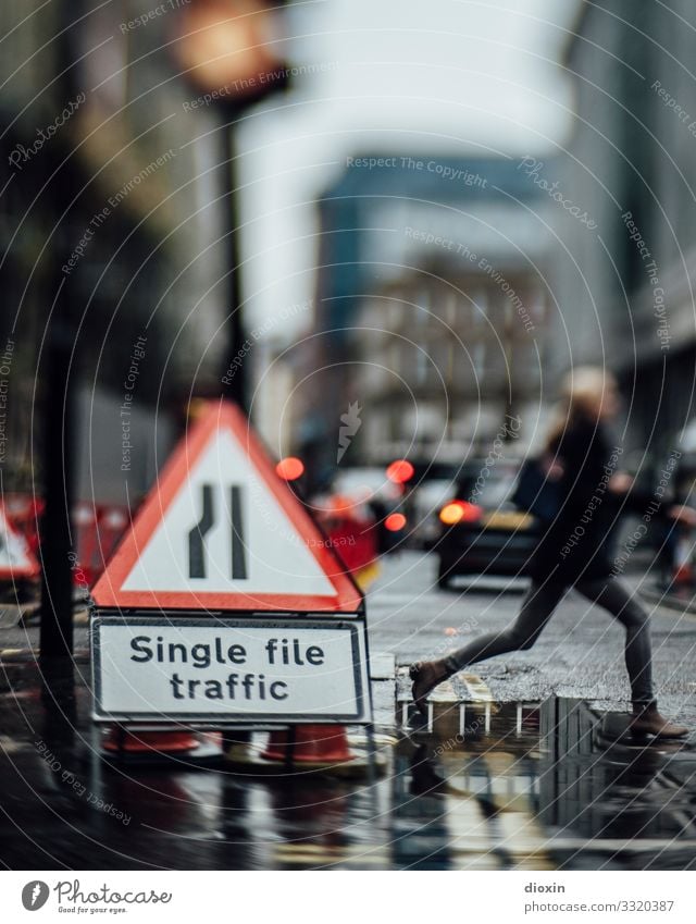
[[[40,477],[45,334],[71,306],[78,496],[133,501],[228,345],[220,116],[167,51],[177,4],[3,4],[0,352],[5,490]],[[60,295],[59,295],[60,291]],[[5,364],[7,365],[7,364]],[[224,367],[223,367],[224,368]]]

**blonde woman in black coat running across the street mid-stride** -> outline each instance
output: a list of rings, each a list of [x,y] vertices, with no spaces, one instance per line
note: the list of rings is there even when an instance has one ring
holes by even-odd
[[[506,652],[531,649],[569,587],[597,603],[625,629],[625,665],[631,682],[631,731],[636,737],[681,738],[688,729],[660,715],[652,687],[648,613],[617,578],[610,532],[622,510],[646,513],[655,497],[638,495],[632,479],[617,472],[621,454],[612,447],[606,422],[619,409],[616,381],[602,369],[583,367],[569,374],[562,414],[548,439],[547,453],[557,472],[559,509],[544,525],[530,562],[531,587],[515,621],[500,632],[478,636],[437,661],[411,665],[413,700],[426,712],[426,697],[438,683],[470,664]],[[687,526],[696,510],[671,506],[659,510]]]

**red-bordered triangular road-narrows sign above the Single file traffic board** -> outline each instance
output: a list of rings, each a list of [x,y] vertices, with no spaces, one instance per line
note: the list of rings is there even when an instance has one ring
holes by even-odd
[[[102,607],[355,613],[362,595],[247,418],[210,402],[92,590]]]

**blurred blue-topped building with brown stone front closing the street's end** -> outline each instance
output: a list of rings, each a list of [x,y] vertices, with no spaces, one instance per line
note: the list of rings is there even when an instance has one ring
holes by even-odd
[[[534,439],[551,298],[552,202],[522,158],[348,158],[321,198],[316,334],[299,452],[343,465],[461,463],[508,415]],[[515,424],[517,426],[517,424]]]

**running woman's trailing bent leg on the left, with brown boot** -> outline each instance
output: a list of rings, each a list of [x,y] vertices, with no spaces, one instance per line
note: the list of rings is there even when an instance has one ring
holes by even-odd
[[[409,674],[413,680],[413,700],[419,710],[425,711],[425,697],[434,687],[462,667],[497,654],[532,648],[566,589],[564,584],[533,582],[522,602],[518,618],[506,629],[478,636],[447,657],[411,665]]]

